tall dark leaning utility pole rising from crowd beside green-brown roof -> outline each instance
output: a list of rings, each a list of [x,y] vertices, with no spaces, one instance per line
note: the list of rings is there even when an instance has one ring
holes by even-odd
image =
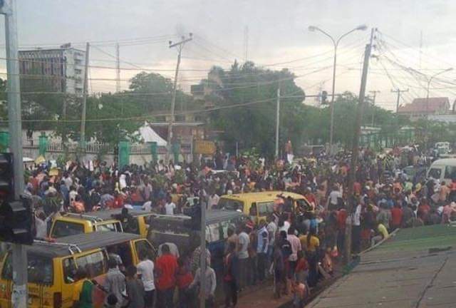
[[[364,98],[366,96],[366,83],[368,79],[369,58],[371,58],[371,50],[373,38],[376,29],[371,31],[371,42],[366,45],[364,51],[363,73],[361,75],[361,88],[359,91],[358,108],[356,109],[355,135],[353,136],[353,148],[351,153],[351,165],[348,172],[348,219],[346,220],[346,235],[345,235],[345,258],[346,262],[351,261],[351,217],[353,216],[353,208],[356,207],[358,200],[355,200],[353,195],[353,184],[355,183],[356,167],[358,166],[358,144],[359,136],[361,135],[361,120],[363,116]]]

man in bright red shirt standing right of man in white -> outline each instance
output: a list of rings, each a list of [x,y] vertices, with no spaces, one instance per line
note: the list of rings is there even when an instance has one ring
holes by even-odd
[[[177,259],[170,253],[170,247],[162,245],[162,256],[155,262],[157,277],[157,307],[172,308],[176,285]]]

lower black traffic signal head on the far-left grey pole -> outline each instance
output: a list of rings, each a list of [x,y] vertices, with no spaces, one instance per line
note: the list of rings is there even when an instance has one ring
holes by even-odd
[[[0,205],[0,241],[32,245],[34,236],[31,200],[3,202]]]

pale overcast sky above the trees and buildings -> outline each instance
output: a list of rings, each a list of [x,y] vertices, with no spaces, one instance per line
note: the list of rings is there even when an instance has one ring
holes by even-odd
[[[214,64],[227,68],[234,59],[244,61],[247,45],[248,60],[271,69],[288,67],[306,93],[331,91],[333,47],[323,34],[308,31],[310,25],[335,37],[360,24],[378,28],[368,91],[381,91],[377,102],[384,108],[395,108],[392,88],[409,88],[401,103],[410,102],[425,96],[426,76],[456,66],[452,0],[17,0],[17,10],[22,48],[93,43],[90,66],[98,68],[90,68],[90,89],[95,92],[115,89],[116,41],[125,68],[122,88],[128,88],[128,78],[140,68],[173,76],[177,52],[168,41],[189,32],[195,39],[183,52],[184,90]],[[3,23],[1,28],[4,57]],[[369,35],[356,31],[341,41],[336,93],[358,93]],[[432,84],[431,96],[454,101],[455,79],[456,67]]]

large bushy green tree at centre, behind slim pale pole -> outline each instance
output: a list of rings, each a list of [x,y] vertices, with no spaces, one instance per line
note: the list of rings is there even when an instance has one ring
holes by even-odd
[[[212,128],[222,130],[227,148],[257,148],[260,153],[274,155],[276,123],[276,91],[281,87],[281,143],[298,142],[303,133],[297,125],[304,112],[304,91],[294,83],[287,70],[271,71],[252,62],[239,66],[235,62],[229,71],[214,67],[209,72],[213,92],[207,96],[219,110],[210,114]],[[244,106],[237,106],[242,105]]]

